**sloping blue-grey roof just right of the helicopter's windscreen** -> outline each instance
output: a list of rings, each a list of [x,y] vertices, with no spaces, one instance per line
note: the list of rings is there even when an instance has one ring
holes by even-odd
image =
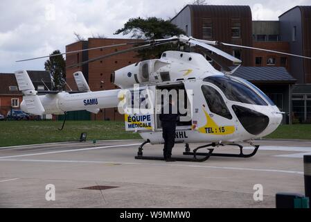
[[[253,83],[295,83],[285,67],[240,67],[233,74]]]

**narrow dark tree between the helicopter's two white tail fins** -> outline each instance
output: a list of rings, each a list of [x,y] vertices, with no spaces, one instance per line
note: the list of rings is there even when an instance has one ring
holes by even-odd
[[[60,54],[59,50],[53,51],[50,58],[44,63],[44,68],[49,71],[54,83],[53,89],[64,89],[66,80],[66,62],[62,56],[52,56]]]

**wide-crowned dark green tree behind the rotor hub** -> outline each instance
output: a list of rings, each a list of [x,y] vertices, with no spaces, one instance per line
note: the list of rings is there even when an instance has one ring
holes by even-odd
[[[185,32],[178,28],[175,24],[170,23],[169,20],[164,20],[157,17],[148,17],[143,19],[141,17],[132,18],[124,24],[123,28],[118,29],[114,35],[123,33],[123,35],[132,34],[132,38],[141,40],[157,40],[174,35],[185,34]],[[143,60],[150,58],[159,58],[163,51],[177,49],[176,45],[167,44],[156,46],[153,49],[139,50],[138,57]]]

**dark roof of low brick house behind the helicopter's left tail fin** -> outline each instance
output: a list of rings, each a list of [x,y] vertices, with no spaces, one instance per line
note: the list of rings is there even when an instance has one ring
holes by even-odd
[[[41,83],[41,80],[46,83],[46,85],[51,85],[51,76],[48,71],[27,71],[30,79],[33,83]],[[19,91],[10,91],[10,86],[17,86],[17,81],[15,74],[1,74],[0,73],[0,95],[21,95]]]

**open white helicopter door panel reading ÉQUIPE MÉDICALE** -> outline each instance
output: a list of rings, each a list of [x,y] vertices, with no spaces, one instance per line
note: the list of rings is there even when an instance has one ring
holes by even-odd
[[[125,130],[154,130],[154,92],[155,86],[131,89],[126,94]]]

